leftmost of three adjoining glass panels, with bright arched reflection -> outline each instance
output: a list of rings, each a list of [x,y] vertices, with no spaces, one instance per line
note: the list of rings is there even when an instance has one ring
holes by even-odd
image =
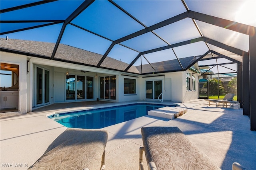
[[[66,76],[66,100],[75,100],[76,78],[74,75]]]

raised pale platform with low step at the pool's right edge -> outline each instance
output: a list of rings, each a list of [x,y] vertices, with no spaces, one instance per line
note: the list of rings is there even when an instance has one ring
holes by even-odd
[[[166,119],[175,119],[178,116],[183,115],[188,112],[188,109],[180,108],[180,107],[162,107],[155,110],[148,111],[148,115],[162,117]]]

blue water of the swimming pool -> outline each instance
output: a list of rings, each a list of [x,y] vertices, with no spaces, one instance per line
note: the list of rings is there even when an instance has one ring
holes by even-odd
[[[175,107],[157,104],[129,104],[124,106],[59,113],[58,117],[52,115],[50,118],[66,127],[99,129],[145,116],[148,114],[149,110],[166,106]]]

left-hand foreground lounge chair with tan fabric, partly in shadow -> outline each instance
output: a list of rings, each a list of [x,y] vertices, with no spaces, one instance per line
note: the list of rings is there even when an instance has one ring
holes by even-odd
[[[30,170],[105,170],[108,132],[68,128],[58,136]]]

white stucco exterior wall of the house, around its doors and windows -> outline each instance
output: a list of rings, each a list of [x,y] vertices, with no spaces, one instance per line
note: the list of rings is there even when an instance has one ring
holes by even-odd
[[[27,74],[27,60],[28,62],[28,74]],[[48,59],[40,59],[35,57],[27,57],[25,55],[17,55],[12,53],[1,52],[1,62],[18,64],[20,66],[19,74],[19,110],[21,113],[31,112],[36,105],[36,76],[35,70],[44,68],[50,71],[50,96],[49,104],[63,103],[63,102],[78,102],[87,100],[97,100],[100,98],[100,77],[103,76],[116,76],[116,100],[114,102],[126,102],[135,100],[152,100],[146,99],[146,81],[162,81],[162,93],[163,100],[172,102],[186,102],[198,98],[198,75],[196,77],[196,90],[186,90],[186,73],[187,71],[169,72],[162,74],[152,75],[132,75],[123,74],[122,72],[105,70],[102,68],[94,68],[89,66],[82,66],[78,64],[63,63],[60,61],[50,61]],[[84,100],[66,100],[66,70],[68,69],[70,75],[90,76],[94,77],[94,98]],[[79,70],[90,70],[86,72],[80,72]],[[95,74],[98,77],[95,77]],[[136,93],[124,94],[124,78],[136,80]],[[192,81],[192,78],[191,78]],[[192,82],[191,82],[192,84]],[[158,97],[158,96],[156,96]],[[158,101],[157,99],[154,99]],[[20,102],[27,101],[27,102]],[[43,106],[39,106],[43,107]]]

